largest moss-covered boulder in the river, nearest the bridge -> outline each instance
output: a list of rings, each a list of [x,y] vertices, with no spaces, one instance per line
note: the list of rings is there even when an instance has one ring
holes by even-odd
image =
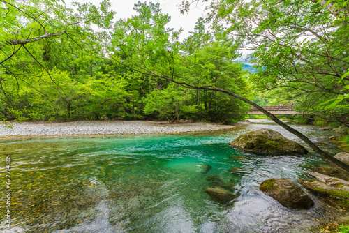
[[[304,154],[308,151],[295,141],[268,128],[252,131],[237,137],[230,143],[237,149],[265,154]]]

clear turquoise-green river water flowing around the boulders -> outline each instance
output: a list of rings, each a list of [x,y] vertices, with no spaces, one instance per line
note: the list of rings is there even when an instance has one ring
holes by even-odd
[[[229,142],[258,128],[185,135],[135,137],[51,137],[3,139],[13,170],[13,225],[1,232],[309,232],[325,209],[316,202],[292,211],[258,190],[269,178],[308,178],[309,165],[324,165],[315,153],[306,156],[261,156],[237,151]],[[295,126],[315,142],[327,132]],[[297,140],[299,141],[299,140]],[[335,147],[327,151],[338,152]],[[212,169],[202,174],[202,165]],[[230,172],[231,167],[238,167]],[[235,181],[239,195],[231,206],[205,193],[207,176]],[[1,197],[5,183],[1,180]],[[1,200],[5,202],[3,198]],[[1,205],[1,213],[5,206]]]

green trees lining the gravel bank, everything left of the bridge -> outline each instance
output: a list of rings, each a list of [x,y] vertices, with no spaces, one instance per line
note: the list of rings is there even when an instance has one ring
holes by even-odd
[[[166,27],[170,16],[158,3],[139,1],[133,17],[114,24],[107,0],[74,9],[47,0],[1,6],[8,15],[0,18],[2,118],[244,119],[244,103],[202,89],[247,96],[250,88],[234,61],[237,46],[205,29],[203,18],[180,43],[181,31]]]

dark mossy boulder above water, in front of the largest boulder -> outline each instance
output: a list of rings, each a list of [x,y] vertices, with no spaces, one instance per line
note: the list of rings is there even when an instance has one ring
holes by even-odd
[[[260,190],[291,209],[310,209],[314,205],[304,190],[289,179],[268,179],[260,183]]]

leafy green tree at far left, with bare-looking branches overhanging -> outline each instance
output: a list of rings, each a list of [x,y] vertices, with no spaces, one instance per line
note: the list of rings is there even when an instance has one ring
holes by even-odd
[[[47,111],[38,106],[52,106],[50,103],[56,103],[57,98],[69,109],[71,93],[64,84],[79,82],[79,78],[92,76],[98,70],[107,33],[95,33],[92,26],[107,29],[114,13],[108,9],[109,1],[102,1],[99,8],[87,3],[75,3],[75,7],[76,11],[66,8],[60,1],[1,1],[3,117],[43,119],[48,117]],[[61,82],[57,74],[64,70],[70,80]],[[66,111],[64,105],[57,103],[51,109],[67,112],[70,117],[71,111]],[[35,113],[39,109],[44,112]]]

